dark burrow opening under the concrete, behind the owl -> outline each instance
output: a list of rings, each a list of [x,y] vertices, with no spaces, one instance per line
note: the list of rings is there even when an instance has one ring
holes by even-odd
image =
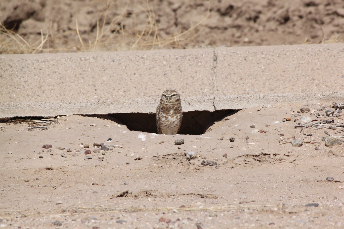
[[[201,135],[219,121],[229,115],[237,113],[239,110],[221,110],[221,111],[191,111],[183,113],[182,126],[178,134]],[[142,131],[148,133],[157,133],[156,116],[146,113],[125,113],[110,114],[114,121],[119,121],[126,125],[129,130]],[[112,119],[111,118],[111,119]]]

